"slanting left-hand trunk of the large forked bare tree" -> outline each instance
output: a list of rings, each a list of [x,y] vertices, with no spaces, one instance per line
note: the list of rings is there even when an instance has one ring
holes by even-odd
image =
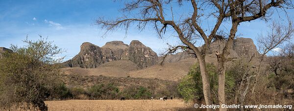
[[[205,61],[200,57],[198,57],[199,67],[200,67],[200,73],[202,78],[202,87],[203,87],[203,95],[206,105],[212,105],[212,96],[211,96],[211,89],[210,89],[210,83],[207,75],[206,65]],[[212,109],[206,109],[207,111],[211,111]]]

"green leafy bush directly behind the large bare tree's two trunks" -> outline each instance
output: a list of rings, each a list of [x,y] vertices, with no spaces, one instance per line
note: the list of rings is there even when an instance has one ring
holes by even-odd
[[[206,64],[207,74],[210,81],[210,88],[212,92],[215,92],[214,95],[217,95],[218,92],[218,70],[213,64]],[[231,74],[226,74],[225,86],[226,91],[231,91],[234,87],[234,78]],[[196,99],[203,99],[203,87],[202,87],[202,78],[200,74],[200,67],[198,64],[190,67],[188,75],[184,76],[177,87],[177,90],[180,96],[188,101],[195,101]],[[213,98],[214,101],[217,101],[217,97]]]

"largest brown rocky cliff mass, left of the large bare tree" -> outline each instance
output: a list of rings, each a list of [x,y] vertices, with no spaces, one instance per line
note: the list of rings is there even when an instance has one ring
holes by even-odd
[[[139,41],[132,41],[130,45],[122,41],[112,41],[102,47],[83,43],[80,52],[65,63],[69,67],[96,68],[106,62],[117,60],[130,60],[138,67],[144,68],[157,64],[158,56]]]

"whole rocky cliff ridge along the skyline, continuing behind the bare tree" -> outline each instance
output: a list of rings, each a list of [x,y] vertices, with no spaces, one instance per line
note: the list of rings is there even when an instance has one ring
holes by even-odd
[[[225,41],[214,41],[210,45],[207,53],[207,61],[216,62],[215,52],[221,52],[225,46]],[[198,47],[200,49],[200,47]],[[230,50],[229,57],[240,58],[259,55],[253,40],[250,38],[237,38],[234,40],[233,49]],[[166,57],[165,62],[174,63],[183,59],[195,57],[187,52],[180,52]],[[83,43],[81,50],[72,60],[65,62],[68,67],[95,68],[106,62],[129,60],[139,68],[145,68],[158,64],[162,57],[140,41],[132,41],[129,45],[122,41],[107,42],[99,47],[91,43]]]

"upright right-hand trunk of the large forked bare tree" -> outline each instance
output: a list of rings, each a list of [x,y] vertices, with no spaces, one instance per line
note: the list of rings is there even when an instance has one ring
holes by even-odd
[[[218,58],[218,70],[219,70],[219,104],[220,111],[225,111],[226,109],[222,109],[221,105],[225,104],[225,92],[224,92],[224,84],[225,84],[225,62],[221,58]]]

